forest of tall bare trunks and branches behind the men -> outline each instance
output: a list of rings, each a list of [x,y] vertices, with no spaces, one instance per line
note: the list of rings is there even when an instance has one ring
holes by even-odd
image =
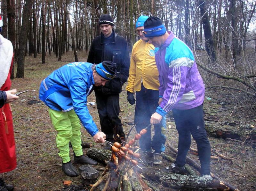
[[[140,15],[157,16],[193,51],[207,96],[255,112],[256,1],[253,0],[1,0],[2,35],[12,41],[17,72],[24,78],[25,56],[56,57],[86,52],[100,34],[98,20],[110,14],[116,33],[130,50],[139,39]],[[203,49],[198,53],[198,46]],[[200,49],[200,48],[199,48]],[[214,97],[216,92],[221,92]],[[253,115],[250,115],[253,117]],[[249,117],[250,118],[250,117]]]

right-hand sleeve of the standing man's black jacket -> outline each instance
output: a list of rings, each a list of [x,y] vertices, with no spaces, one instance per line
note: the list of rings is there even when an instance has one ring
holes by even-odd
[[[128,43],[126,40],[124,40],[124,58],[122,63],[122,69],[121,69],[121,82],[122,85],[127,81],[127,78],[129,76],[129,68],[130,68],[130,57],[129,57],[129,51],[128,51]]]

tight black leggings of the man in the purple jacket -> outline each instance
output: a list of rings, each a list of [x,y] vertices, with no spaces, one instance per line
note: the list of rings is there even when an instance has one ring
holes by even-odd
[[[173,109],[172,114],[179,133],[176,165],[185,165],[192,135],[197,144],[201,174],[210,174],[211,146],[204,128],[203,104],[188,110]]]

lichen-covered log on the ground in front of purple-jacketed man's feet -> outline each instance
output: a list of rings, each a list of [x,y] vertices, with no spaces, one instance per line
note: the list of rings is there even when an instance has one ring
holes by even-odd
[[[150,167],[143,169],[143,176],[145,179],[157,181],[164,186],[182,190],[228,190],[228,187],[219,180],[204,180],[199,176],[163,172]]]

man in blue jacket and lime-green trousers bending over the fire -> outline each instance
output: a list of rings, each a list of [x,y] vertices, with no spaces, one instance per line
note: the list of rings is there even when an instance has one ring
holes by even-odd
[[[68,143],[72,144],[74,162],[97,165],[85,157],[81,146],[80,121],[95,143],[104,143],[106,135],[100,132],[87,108],[87,96],[94,86],[104,86],[116,74],[116,63],[104,61],[97,66],[88,62],[73,62],[60,67],[40,85],[39,98],[49,107],[49,115],[58,134],[58,155],[62,170],[68,176],[78,176],[69,157]]]

